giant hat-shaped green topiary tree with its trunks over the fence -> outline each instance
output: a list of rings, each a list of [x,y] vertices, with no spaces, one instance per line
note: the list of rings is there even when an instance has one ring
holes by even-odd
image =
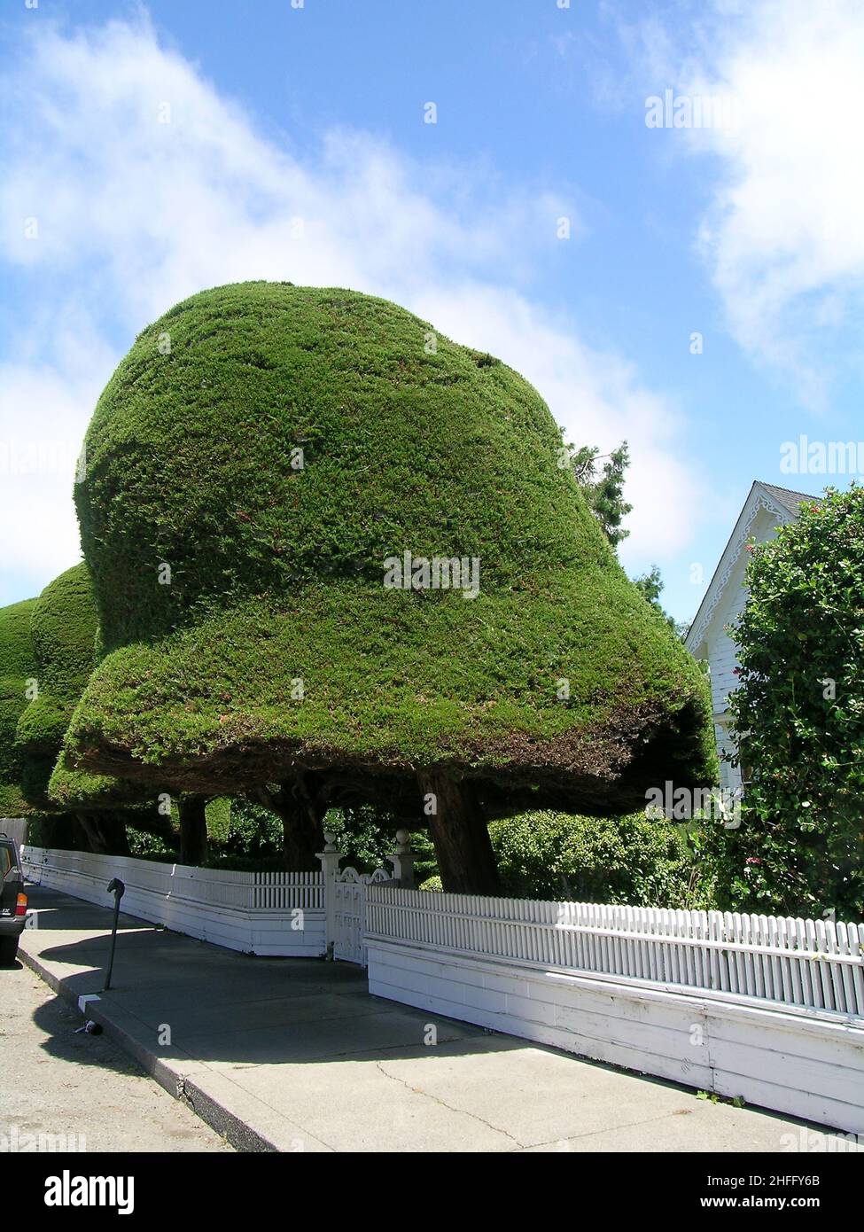
[[[710,781],[703,678],[564,452],[516,372],[386,301],[259,282],[177,304],[86,437],[105,658],[69,755],[255,795],[301,867],[328,807],[385,803],[470,890],[495,883],[492,816]],[[478,593],[423,564],[385,585],[407,552],[479,562]]]

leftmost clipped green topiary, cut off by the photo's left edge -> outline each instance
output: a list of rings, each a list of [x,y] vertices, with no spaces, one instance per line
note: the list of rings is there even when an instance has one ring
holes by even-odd
[[[35,599],[0,609],[0,817],[31,812],[21,795],[21,753],[15,729],[27,705],[27,681],[36,676],[30,622]]]

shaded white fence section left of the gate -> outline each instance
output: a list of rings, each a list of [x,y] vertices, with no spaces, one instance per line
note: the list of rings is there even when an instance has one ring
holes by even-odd
[[[32,846],[21,855],[31,881],[100,907],[113,902],[106,887],[118,877],[127,914],[203,941],[267,956],[327,950],[320,872],[234,872]]]

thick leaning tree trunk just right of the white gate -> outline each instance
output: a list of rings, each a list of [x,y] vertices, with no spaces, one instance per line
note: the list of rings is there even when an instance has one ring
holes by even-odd
[[[444,888],[461,894],[498,893],[489,829],[471,790],[439,770],[419,774],[418,781]],[[426,813],[430,796],[434,811]]]

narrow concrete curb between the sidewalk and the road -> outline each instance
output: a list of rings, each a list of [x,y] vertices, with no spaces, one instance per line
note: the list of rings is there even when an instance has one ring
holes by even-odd
[[[21,939],[23,941],[23,936]],[[23,945],[18,945],[18,958],[35,975],[63,1000],[68,1002],[75,1010],[79,1010],[79,994],[69,988],[64,979],[58,978],[35,955],[30,954]],[[142,1040],[137,1039],[131,1030],[115,1021],[102,1009],[102,1003],[90,1002],[86,1008],[88,1018],[99,1023],[108,1039],[128,1052],[134,1061],[169,1093],[177,1103],[185,1104],[206,1125],[223,1137],[235,1151],[243,1152],[276,1152],[281,1148],[265,1135],[253,1130],[240,1116],[232,1112],[224,1103],[216,1099],[203,1087],[201,1087],[192,1074],[184,1072],[177,1066],[153,1052]],[[216,1077],[216,1076],[214,1076]]]

